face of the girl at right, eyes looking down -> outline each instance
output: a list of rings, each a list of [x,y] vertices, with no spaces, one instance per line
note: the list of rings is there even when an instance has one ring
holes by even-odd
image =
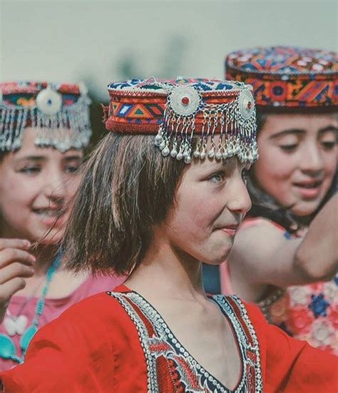
[[[269,115],[258,135],[256,180],[292,213],[309,215],[326,195],[337,168],[337,116]]]

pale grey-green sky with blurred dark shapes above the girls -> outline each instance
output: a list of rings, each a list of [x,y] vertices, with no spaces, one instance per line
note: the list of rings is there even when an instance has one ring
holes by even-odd
[[[94,101],[125,78],[222,78],[252,46],[337,51],[337,1],[0,0],[0,78],[84,81]]]

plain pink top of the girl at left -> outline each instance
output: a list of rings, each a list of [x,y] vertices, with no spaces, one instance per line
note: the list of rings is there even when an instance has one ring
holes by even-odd
[[[113,275],[98,276],[98,277],[90,276],[76,290],[74,290],[70,295],[66,297],[60,297],[55,299],[53,298],[48,299],[47,297],[45,300],[45,305],[43,308],[42,315],[39,319],[38,327],[40,328],[43,325],[46,325],[47,322],[56,319],[56,317],[58,317],[61,314],[61,312],[66,310],[66,308],[70,307],[74,303],[79,302],[85,297],[95,295],[98,292],[106,292],[108,290],[112,290],[117,285],[120,285],[124,280],[125,277],[115,277]],[[18,313],[21,310],[21,307],[24,305],[25,300],[26,297],[24,296],[14,295],[13,297],[11,297],[11,302],[9,303],[9,307],[8,307],[8,310],[11,313],[11,315],[15,315],[15,316],[18,315]],[[26,327],[29,327],[29,325],[31,325],[31,323],[33,322],[35,309],[36,309],[36,302],[38,300],[39,297],[32,297],[27,303],[27,305],[24,307],[24,309],[20,312],[20,315],[24,315],[28,319]],[[8,335],[8,332],[6,331],[4,325],[5,323],[3,321],[0,325],[0,333],[4,333],[5,335]],[[16,346],[16,355],[19,357],[22,356],[22,351],[19,344],[20,338],[21,335],[18,334],[11,336],[11,340],[13,340]],[[11,367],[16,366],[17,364],[18,363],[12,361],[11,359],[2,359],[0,357],[0,371],[11,369]]]

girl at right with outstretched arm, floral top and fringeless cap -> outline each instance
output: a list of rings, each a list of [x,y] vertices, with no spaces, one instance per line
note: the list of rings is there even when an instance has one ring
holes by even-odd
[[[252,209],[220,267],[222,292],[338,354],[337,53],[258,48],[231,53],[226,68],[254,88],[260,159]]]

